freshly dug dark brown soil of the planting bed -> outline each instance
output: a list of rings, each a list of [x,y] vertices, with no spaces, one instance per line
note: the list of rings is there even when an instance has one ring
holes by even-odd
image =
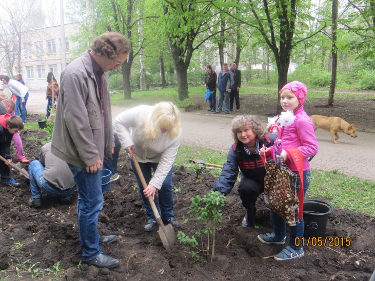
[[[323,114],[324,115],[324,114]],[[367,115],[368,116],[368,115]],[[34,118],[36,119],[36,118]],[[23,131],[25,153],[37,159],[45,131]],[[28,165],[24,164],[27,169]],[[169,250],[156,232],[144,231],[146,214],[136,180],[124,152],[119,159],[120,179],[112,182],[104,194],[104,208],[99,216],[101,235],[116,234],[117,242],[104,245],[103,251],[121,259],[120,266],[108,270],[80,263],[76,198],[67,206],[50,196],[45,206],[29,208],[29,181],[12,172],[22,183],[20,188],[2,186],[0,194],[0,277],[8,280],[31,280],[32,274],[47,268],[36,279],[44,280],[369,280],[375,269],[375,222],[369,215],[334,209],[329,215],[326,235],[350,238],[350,246],[306,246],[305,256],[278,262],[273,255],[282,245],[265,245],[256,238],[271,232],[269,211],[263,197],[257,202],[255,229],[241,226],[245,209],[235,186],[222,210],[222,223],[216,228],[216,259],[206,255],[207,237],[198,238],[198,249],[176,242]],[[193,195],[212,190],[215,177],[209,170],[175,167],[173,186],[174,213],[183,231],[194,235],[202,228],[190,218],[188,209]],[[177,233],[177,230],[176,230]],[[289,234],[287,239],[289,238]],[[340,240],[340,244],[341,240]],[[194,260],[191,250],[200,251]],[[32,267],[34,265],[34,267]],[[32,267],[32,268],[31,268]],[[18,273],[17,269],[18,268]],[[57,268],[57,269],[56,269]],[[36,270],[36,271],[35,271]],[[60,271],[60,273],[56,273]]]

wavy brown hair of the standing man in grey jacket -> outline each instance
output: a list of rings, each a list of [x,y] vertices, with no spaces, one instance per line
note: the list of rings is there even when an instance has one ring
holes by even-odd
[[[121,53],[128,54],[131,51],[131,46],[123,34],[108,32],[96,37],[92,41],[91,50],[98,56],[107,56],[113,59]]]

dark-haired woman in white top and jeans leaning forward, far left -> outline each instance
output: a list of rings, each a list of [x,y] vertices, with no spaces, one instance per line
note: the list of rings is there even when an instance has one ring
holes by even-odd
[[[9,90],[17,96],[14,114],[19,116],[18,108],[21,107],[22,122],[26,123],[26,103],[29,98],[29,88],[16,80],[10,79],[7,75],[2,77],[2,82],[8,85]]]

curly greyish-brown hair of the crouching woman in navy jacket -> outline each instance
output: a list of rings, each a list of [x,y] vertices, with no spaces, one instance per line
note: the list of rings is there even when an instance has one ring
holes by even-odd
[[[255,139],[261,142],[264,139],[265,130],[262,127],[262,123],[255,115],[239,115],[236,116],[232,121],[232,136],[234,142],[239,143],[237,132],[244,126],[251,127],[255,134]]]

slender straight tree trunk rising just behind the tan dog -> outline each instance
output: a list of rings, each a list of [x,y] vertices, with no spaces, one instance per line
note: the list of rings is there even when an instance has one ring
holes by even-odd
[[[332,106],[334,101],[334,91],[337,81],[337,16],[338,16],[338,0],[332,0],[332,74],[331,86],[329,88],[328,105]]]

